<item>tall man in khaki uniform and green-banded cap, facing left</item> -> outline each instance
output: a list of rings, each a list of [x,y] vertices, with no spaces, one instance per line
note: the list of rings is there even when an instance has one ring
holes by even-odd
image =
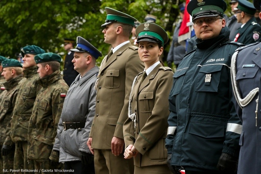
[[[133,160],[124,160],[123,123],[127,119],[128,101],[134,77],[144,69],[138,47],[129,36],[134,22],[125,13],[105,7],[107,19],[102,27],[104,42],[112,45],[97,76],[96,112],[88,139],[94,154],[95,173],[133,173]],[[94,149],[94,150],[93,150]]]

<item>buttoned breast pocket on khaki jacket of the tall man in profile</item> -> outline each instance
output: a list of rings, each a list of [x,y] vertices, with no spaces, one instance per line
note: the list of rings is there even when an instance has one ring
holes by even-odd
[[[112,68],[106,72],[105,87],[106,88],[119,88],[119,69]]]

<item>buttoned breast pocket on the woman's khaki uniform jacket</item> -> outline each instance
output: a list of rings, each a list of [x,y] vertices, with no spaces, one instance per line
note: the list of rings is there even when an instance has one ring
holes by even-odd
[[[152,112],[154,106],[153,91],[142,91],[138,97],[140,112]]]

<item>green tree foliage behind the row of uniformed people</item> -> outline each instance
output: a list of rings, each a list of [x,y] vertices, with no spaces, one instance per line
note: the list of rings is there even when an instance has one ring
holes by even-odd
[[[231,16],[230,0],[226,14]],[[103,28],[108,6],[144,22],[146,14],[157,16],[171,41],[178,5],[185,0],[0,0],[0,55],[14,58],[21,47],[37,45],[45,51],[63,56],[63,38],[82,36],[103,55],[109,45],[104,43]],[[167,55],[169,43],[165,46]],[[99,65],[102,60],[97,60]]]

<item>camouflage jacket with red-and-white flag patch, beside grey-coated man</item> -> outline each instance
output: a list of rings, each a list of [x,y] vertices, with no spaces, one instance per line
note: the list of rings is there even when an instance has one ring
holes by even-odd
[[[36,96],[28,126],[28,159],[48,161],[53,148],[63,102],[69,89],[60,70],[36,81],[42,86]]]

